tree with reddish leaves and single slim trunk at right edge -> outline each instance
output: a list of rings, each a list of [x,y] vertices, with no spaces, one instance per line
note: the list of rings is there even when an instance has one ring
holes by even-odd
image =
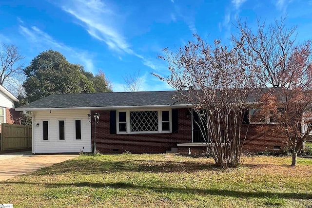
[[[296,27],[287,28],[285,20],[275,20],[268,27],[258,21],[256,32],[238,21],[240,36],[233,40],[256,57],[260,69],[257,76],[266,87],[273,88],[269,96],[275,98],[263,101],[262,108],[279,123],[281,135],[289,138],[292,165],[296,165],[297,152],[312,127],[312,47],[311,40],[298,44]]]

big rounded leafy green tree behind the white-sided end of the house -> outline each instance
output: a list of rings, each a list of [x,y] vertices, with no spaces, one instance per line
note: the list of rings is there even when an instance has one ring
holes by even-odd
[[[83,67],[71,64],[59,52],[48,50],[35,57],[24,69],[23,84],[28,102],[51,94],[94,93],[92,80],[82,73]]]

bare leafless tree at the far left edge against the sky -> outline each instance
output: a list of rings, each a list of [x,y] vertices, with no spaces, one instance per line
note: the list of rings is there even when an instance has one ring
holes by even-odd
[[[3,85],[10,77],[22,74],[23,59],[15,45],[2,44],[0,50],[0,85]]]

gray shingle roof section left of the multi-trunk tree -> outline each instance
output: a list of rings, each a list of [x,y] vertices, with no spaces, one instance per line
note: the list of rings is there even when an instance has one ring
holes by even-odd
[[[176,91],[49,95],[17,109],[172,105]]]

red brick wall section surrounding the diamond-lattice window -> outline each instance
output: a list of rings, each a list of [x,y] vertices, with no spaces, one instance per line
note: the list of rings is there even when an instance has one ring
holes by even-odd
[[[110,134],[109,111],[92,111],[100,113],[96,126],[96,146],[101,153],[164,153],[177,143],[190,143],[192,141],[192,120],[187,118],[188,109],[178,109],[178,133],[136,133],[136,134]],[[94,141],[94,124],[92,123],[92,145]],[[113,152],[118,149],[118,152]]]

